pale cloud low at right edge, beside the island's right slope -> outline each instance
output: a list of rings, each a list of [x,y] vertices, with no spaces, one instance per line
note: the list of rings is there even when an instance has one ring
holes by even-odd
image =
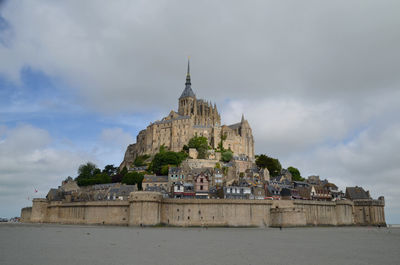
[[[400,203],[400,122],[386,128],[369,128],[351,141],[319,146],[308,154],[296,154],[290,163],[303,173],[328,178],[344,189],[362,186],[375,198],[385,196],[387,221],[398,222]]]

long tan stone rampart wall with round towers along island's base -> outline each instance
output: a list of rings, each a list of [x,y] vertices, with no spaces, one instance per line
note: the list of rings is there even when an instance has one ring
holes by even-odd
[[[164,199],[133,192],[129,201],[50,202],[34,199],[22,222],[130,226],[385,226],[384,202]]]

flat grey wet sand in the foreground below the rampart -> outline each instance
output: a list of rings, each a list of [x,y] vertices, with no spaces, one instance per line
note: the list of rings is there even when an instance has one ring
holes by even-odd
[[[400,264],[400,228],[1,224],[0,264]]]

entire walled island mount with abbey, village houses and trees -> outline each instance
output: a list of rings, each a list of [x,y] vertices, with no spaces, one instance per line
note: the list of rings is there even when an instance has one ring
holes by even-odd
[[[188,62],[178,111],[139,132],[117,168],[82,164],[22,222],[130,226],[386,226],[383,197],[341,191],[319,176],[254,154],[249,122],[221,125],[217,106],[197,99]]]

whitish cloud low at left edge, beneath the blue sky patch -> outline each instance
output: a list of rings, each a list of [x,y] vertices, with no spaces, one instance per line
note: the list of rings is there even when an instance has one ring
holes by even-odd
[[[46,196],[64,178],[75,176],[83,161],[93,159],[77,150],[52,148],[52,138],[43,129],[31,125],[0,128],[1,215],[18,215],[21,207],[30,204],[28,197]]]

